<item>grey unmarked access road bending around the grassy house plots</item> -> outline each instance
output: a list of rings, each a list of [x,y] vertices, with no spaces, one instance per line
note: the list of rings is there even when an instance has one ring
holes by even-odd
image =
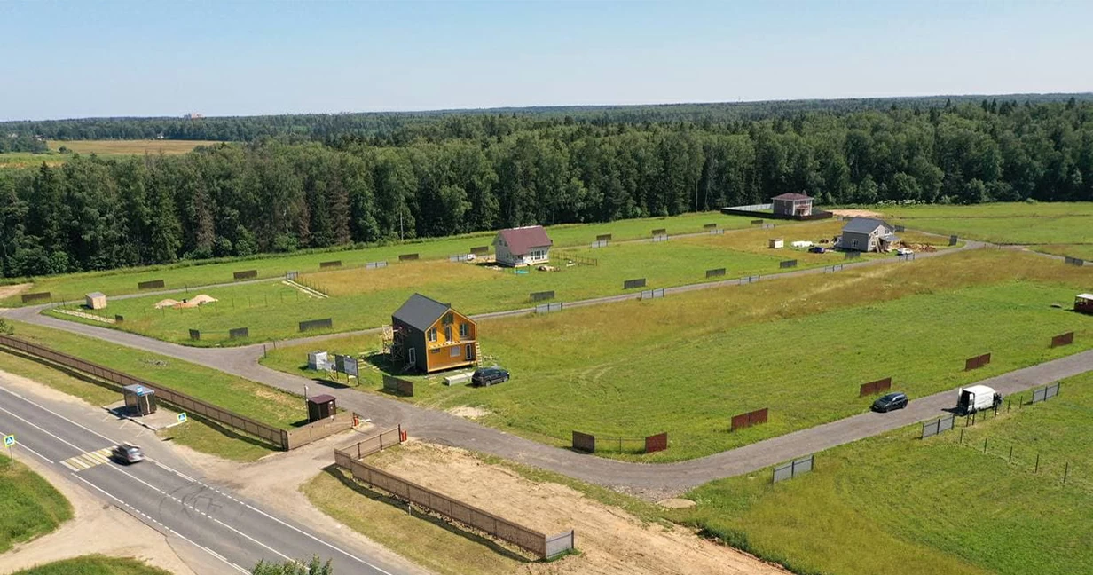
[[[963,249],[975,249],[978,247],[983,247],[983,244],[968,242],[961,248],[924,254],[921,257],[941,257],[945,254],[954,254]],[[878,259],[848,263],[847,267],[878,265],[900,263],[897,260]],[[764,277],[763,281],[810,273],[824,273],[824,270],[815,268],[772,274]],[[666,291],[682,292],[710,289],[726,284],[732,285],[734,282],[736,280],[686,285]],[[632,295],[627,294],[623,297],[628,298]],[[596,305],[614,301],[621,301],[621,298],[618,296],[597,298],[586,302],[585,305]],[[22,321],[63,329],[121,345],[208,365],[298,395],[303,395],[305,385],[310,386],[313,390],[319,386],[325,392],[337,397],[342,409],[350,409],[366,418],[371,418],[377,425],[390,426],[402,424],[409,429],[413,436],[428,442],[495,455],[521,463],[549,469],[581,481],[626,491],[653,501],[677,495],[715,479],[748,473],[795,457],[877,435],[917,421],[943,415],[944,411],[942,410],[953,404],[955,395],[955,390],[943,391],[933,396],[918,398],[910,403],[909,408],[897,413],[862,413],[700,459],[662,465],[631,463],[580,455],[568,449],[543,445],[492,427],[485,427],[450,413],[420,408],[404,401],[352,388],[326,386],[306,377],[269,369],[257,363],[261,355],[261,345],[227,349],[189,348],[125,331],[43,316],[38,313],[40,309],[40,306],[9,309],[5,312],[5,315]],[[478,316],[478,318],[514,315],[516,313],[526,312],[485,314]],[[318,338],[306,341],[317,340]],[[1079,375],[1091,369],[1093,369],[1093,350],[1003,374],[982,383],[1008,395]]]

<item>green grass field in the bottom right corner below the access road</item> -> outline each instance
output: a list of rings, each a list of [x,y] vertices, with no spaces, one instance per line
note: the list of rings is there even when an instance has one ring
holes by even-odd
[[[1085,374],[964,429],[963,445],[963,427],[920,441],[915,425],[821,451],[777,485],[769,469],[708,483],[668,515],[798,573],[1093,573],[1091,418]]]

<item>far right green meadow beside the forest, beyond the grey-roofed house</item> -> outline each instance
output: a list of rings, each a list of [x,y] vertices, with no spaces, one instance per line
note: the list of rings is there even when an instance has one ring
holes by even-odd
[[[1093,203],[985,203],[879,207],[892,223],[939,234],[1093,259]]]

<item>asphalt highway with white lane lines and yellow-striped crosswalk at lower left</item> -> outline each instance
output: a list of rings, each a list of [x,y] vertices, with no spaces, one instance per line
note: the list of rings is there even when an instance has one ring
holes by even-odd
[[[184,463],[168,465],[166,448],[151,439],[141,443],[149,455],[143,462],[122,466],[102,457],[101,450],[122,441],[137,443],[142,435],[149,439],[137,432],[143,427],[116,422],[113,416],[95,420],[32,399],[0,384],[0,432],[15,435],[16,458],[36,457],[166,537],[197,545],[219,560],[224,573],[250,573],[259,560],[280,562],[313,554],[332,560],[338,573],[400,573],[345,542],[330,542],[292,519],[195,479],[199,476]]]

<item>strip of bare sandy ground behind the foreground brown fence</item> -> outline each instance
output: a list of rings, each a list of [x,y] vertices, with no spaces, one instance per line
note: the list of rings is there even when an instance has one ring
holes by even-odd
[[[502,517],[548,533],[576,530],[579,555],[531,563],[521,573],[583,575],[785,574],[683,527],[636,517],[557,483],[536,483],[482,462],[462,449],[404,444],[403,457],[384,467]]]

